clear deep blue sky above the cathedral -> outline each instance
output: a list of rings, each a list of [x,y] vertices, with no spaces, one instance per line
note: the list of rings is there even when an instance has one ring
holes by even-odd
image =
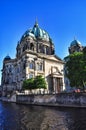
[[[17,42],[36,19],[61,59],[68,55],[74,37],[86,46],[86,0],[1,0],[0,79],[4,57],[16,57]]]

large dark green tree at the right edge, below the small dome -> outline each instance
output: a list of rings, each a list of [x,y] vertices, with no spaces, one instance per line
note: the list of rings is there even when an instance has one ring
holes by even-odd
[[[84,88],[86,85],[86,54],[75,52],[65,58],[65,75],[71,87]]]

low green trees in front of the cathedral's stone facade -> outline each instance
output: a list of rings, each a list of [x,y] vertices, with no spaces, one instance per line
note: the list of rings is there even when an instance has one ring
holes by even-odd
[[[46,89],[46,81],[41,75],[36,76],[35,78],[30,78],[23,81],[22,89],[24,90],[32,90],[32,89]]]

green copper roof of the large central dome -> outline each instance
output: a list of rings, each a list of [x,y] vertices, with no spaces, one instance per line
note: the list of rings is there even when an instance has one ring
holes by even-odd
[[[23,34],[21,40],[23,38],[25,38],[26,36],[31,36],[31,37],[34,37],[34,38],[41,38],[41,39],[44,39],[44,40],[47,40],[47,41],[51,40],[49,34],[45,30],[41,29],[37,22],[35,22],[35,25],[33,26],[32,29],[27,30]]]

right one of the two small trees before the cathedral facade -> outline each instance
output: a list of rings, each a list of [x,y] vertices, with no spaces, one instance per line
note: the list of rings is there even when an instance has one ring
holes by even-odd
[[[46,87],[47,87],[45,78],[43,78],[41,75],[35,77],[34,85],[36,86],[36,88],[39,88],[39,89],[41,89],[41,88],[46,89]]]

